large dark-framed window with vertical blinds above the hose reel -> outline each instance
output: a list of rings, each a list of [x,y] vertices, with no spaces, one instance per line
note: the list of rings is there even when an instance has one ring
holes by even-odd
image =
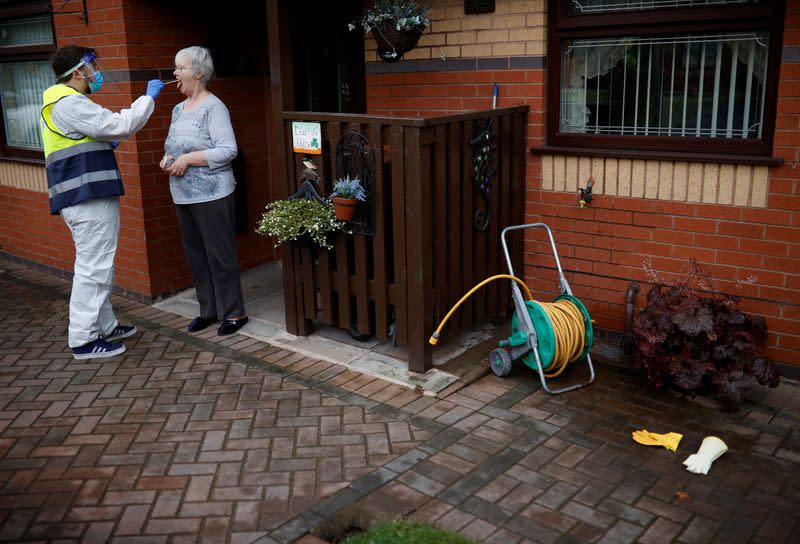
[[[553,0],[548,144],[769,155],[783,9]]]

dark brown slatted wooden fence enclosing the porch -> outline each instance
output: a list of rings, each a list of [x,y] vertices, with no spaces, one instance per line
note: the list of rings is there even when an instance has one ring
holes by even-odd
[[[430,368],[427,340],[439,320],[473,285],[507,272],[500,231],[523,222],[527,113],[527,106],[432,118],[284,112],[288,174],[279,197],[297,190],[303,168],[290,145],[292,122],[315,121],[320,194],[330,194],[338,175],[337,143],[357,131],[373,159],[372,191],[361,206],[374,207],[372,224],[337,233],[332,250],[283,247],[287,330],[310,334],[317,321],[394,335],[408,346],[410,370]],[[517,270],[521,246],[515,239],[510,247]],[[506,281],[489,284],[445,334],[508,310],[509,290]]]

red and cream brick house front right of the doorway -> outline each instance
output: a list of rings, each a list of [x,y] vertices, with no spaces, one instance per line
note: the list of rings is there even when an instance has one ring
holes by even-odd
[[[491,14],[464,15],[463,2],[435,2],[430,32],[392,65],[367,40],[370,113],[427,115],[528,104],[528,147],[545,144],[547,3],[496,2]],[[636,159],[535,151],[528,156],[526,222],[557,233],[573,290],[601,327],[625,328],[624,295],[645,286],[645,260],[664,273],[697,258],[726,289],[749,276],[743,308],[766,318],[769,355],[800,365],[800,3],[786,6],[773,156],[779,166],[686,159]],[[594,201],[578,206],[578,186],[595,180]],[[526,241],[526,282],[554,293],[549,249]],[[541,268],[545,264],[545,269]],[[543,297],[545,300],[547,297]],[[640,295],[638,304],[643,303]]]

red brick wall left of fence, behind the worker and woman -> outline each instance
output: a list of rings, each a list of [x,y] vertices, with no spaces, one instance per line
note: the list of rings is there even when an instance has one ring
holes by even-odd
[[[165,7],[156,1],[89,0],[87,7],[88,25],[74,14],[55,15],[57,45],[96,48],[101,68],[108,72],[145,71],[132,82],[107,82],[103,91],[93,97],[113,110],[124,108],[141,96],[147,79],[171,79],[175,53],[201,44],[214,25],[211,17],[181,10],[180,6]],[[231,32],[235,33],[234,27]],[[265,37],[264,42],[266,59]],[[161,72],[146,72],[152,70]],[[245,157],[248,224],[246,231],[237,236],[243,269],[275,258],[270,240],[253,232],[270,197],[270,96],[266,73],[264,69],[257,76],[219,79],[210,87],[228,106]],[[172,108],[183,98],[174,86],[166,88],[145,128],[117,148],[126,194],[121,199],[116,283],[145,296],[159,296],[191,285],[168,179],[158,168]],[[71,271],[72,240],[61,218],[48,214],[45,194],[0,187],[0,203],[7,210],[0,219],[3,251]]]

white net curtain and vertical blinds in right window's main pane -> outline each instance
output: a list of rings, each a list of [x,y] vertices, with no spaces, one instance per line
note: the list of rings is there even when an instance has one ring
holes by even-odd
[[[567,40],[561,132],[759,138],[767,33]]]

